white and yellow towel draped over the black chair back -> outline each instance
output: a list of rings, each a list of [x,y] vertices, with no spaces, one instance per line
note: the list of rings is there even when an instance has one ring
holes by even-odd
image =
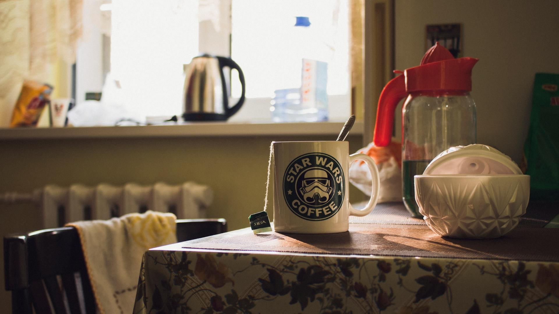
[[[101,314],[132,313],[144,252],[177,242],[176,217],[172,213],[147,211],[67,226],[78,230]]]

